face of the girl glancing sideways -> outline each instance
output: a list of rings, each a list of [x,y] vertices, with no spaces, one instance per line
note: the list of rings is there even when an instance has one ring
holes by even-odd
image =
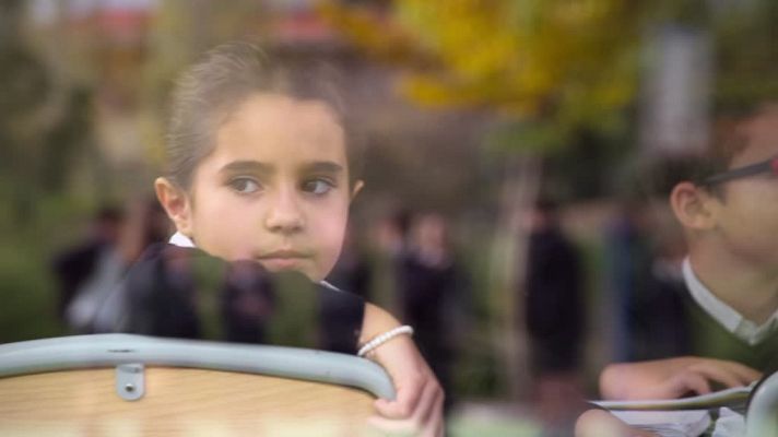
[[[327,104],[257,94],[219,129],[174,220],[204,251],[314,281],[334,265],[349,186],[343,130]]]

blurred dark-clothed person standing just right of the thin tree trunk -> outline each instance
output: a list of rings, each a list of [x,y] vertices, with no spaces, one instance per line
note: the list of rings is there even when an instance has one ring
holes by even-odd
[[[585,339],[584,276],[579,255],[559,226],[557,204],[539,200],[530,233],[526,292],[533,403],[545,435],[563,435],[575,421]]]

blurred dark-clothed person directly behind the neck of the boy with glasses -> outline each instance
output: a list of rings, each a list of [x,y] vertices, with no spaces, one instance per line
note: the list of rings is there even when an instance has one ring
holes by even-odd
[[[672,217],[625,202],[605,234],[609,332],[615,362],[683,355],[688,350],[683,235]],[[656,323],[656,320],[662,320]]]

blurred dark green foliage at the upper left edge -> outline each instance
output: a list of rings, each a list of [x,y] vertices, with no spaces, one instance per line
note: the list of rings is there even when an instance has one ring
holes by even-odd
[[[79,158],[95,156],[92,88],[48,69],[21,31],[24,7],[0,7],[0,200],[13,227],[38,220],[44,194],[67,196]]]

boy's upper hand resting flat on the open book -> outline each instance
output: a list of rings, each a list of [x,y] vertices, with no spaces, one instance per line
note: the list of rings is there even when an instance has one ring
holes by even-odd
[[[603,399],[676,399],[705,394],[711,381],[741,387],[762,377],[753,368],[723,359],[685,356],[640,363],[612,364],[600,375]]]

